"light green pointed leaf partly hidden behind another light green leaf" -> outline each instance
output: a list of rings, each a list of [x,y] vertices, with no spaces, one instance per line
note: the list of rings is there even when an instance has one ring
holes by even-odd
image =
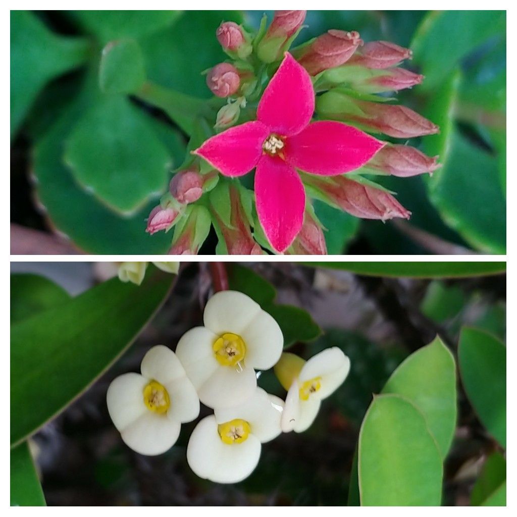
[[[382,392],[401,395],[419,409],[445,459],[456,427],[456,366],[442,340],[411,354]]]

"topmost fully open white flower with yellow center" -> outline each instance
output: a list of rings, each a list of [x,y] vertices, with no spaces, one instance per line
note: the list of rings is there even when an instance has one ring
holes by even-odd
[[[275,364],[283,347],[278,323],[249,296],[221,291],[205,307],[204,327],[195,327],[178,342],[176,355],[209,407],[231,407],[250,398],[254,369]]]

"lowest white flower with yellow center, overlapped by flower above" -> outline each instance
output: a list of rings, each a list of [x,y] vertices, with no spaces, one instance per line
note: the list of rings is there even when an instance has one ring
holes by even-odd
[[[255,388],[246,403],[216,409],[196,425],[187,461],[197,476],[216,483],[237,483],[256,467],[261,444],[281,433],[283,401]]]

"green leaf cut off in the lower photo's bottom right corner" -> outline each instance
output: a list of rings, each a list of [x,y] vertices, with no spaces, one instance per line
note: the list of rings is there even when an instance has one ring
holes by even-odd
[[[506,460],[499,452],[489,456],[470,493],[472,506],[506,506]]]

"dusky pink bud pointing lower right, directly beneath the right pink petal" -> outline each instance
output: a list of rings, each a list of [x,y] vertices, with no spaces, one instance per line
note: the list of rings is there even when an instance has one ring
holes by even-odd
[[[332,176],[327,179],[310,176],[306,183],[323,192],[334,205],[361,219],[386,221],[394,217],[409,219],[411,215],[411,212],[388,192],[362,185],[344,176]]]

